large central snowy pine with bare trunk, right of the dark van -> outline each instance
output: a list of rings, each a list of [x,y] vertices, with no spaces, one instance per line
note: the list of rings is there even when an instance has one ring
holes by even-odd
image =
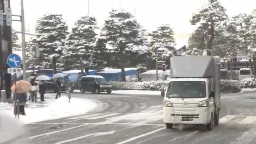
[[[129,12],[112,10],[104,23],[103,31],[106,34],[107,48],[118,58],[122,81],[126,81],[124,67],[128,58],[139,57],[148,52],[148,47],[144,45],[142,27]]]

